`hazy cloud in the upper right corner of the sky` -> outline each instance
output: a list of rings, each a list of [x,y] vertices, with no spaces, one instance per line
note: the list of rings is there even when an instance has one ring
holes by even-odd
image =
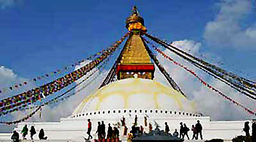
[[[206,24],[205,40],[222,47],[252,49],[256,43],[256,23],[246,28],[241,26],[252,13],[252,1],[222,0],[216,5],[220,7],[220,11],[214,20]]]

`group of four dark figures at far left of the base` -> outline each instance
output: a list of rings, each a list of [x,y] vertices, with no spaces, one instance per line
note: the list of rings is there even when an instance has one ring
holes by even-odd
[[[36,134],[36,130],[34,126],[31,126],[30,132],[30,138],[33,139],[33,136]],[[27,139],[26,136],[28,135],[28,125],[24,125],[23,129],[20,132],[22,134],[23,139]],[[44,129],[40,129],[40,132],[38,134],[39,139],[47,139],[47,136],[44,134]],[[19,141],[19,133],[14,130],[11,139],[13,142]]]

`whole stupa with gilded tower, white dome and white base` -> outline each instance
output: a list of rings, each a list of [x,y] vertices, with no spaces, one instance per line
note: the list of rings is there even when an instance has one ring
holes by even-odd
[[[228,141],[243,134],[241,130],[244,121],[212,122],[209,116],[197,114],[193,103],[189,102],[180,91],[154,81],[155,67],[141,39],[147,28],[136,8],[126,20],[125,27],[132,34],[125,43],[124,54],[118,63],[116,72],[118,81],[85,97],[74,113],[67,118],[61,118],[60,122],[26,122],[28,127],[35,126],[36,139],[39,130],[43,128],[50,141],[83,141],[84,136],[88,137],[86,134],[88,119],[92,120],[93,138],[97,138],[95,134],[97,122],[102,120],[107,131],[108,123],[113,127],[113,124],[121,123],[120,120],[124,117],[129,132],[136,115],[138,126],[142,125],[145,132],[148,132],[149,123],[154,128],[159,125],[160,129],[164,129],[164,122],[167,122],[170,132],[174,132],[175,129],[179,132],[180,122],[186,123],[191,128],[191,125],[195,125],[196,121],[200,120],[204,139],[221,138]],[[20,133],[24,125],[25,123],[19,123],[15,130]],[[123,129],[122,126],[119,128],[120,139],[125,141],[127,136],[123,136]],[[189,136],[192,135],[190,130]]]

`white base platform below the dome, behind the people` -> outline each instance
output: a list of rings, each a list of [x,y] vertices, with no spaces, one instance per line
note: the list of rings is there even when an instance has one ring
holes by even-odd
[[[132,123],[134,123],[134,116],[138,116],[138,126],[142,125],[144,127],[145,132],[148,132],[148,126],[145,127],[144,123],[144,116],[149,116],[147,118],[147,124],[151,123],[153,126],[153,129],[156,128],[155,122],[160,125],[160,129],[164,129],[164,122],[167,122],[170,127],[170,132],[174,132],[175,129],[179,132],[179,123],[183,122],[186,123],[186,125],[191,129],[191,125],[195,125],[197,120],[200,120],[200,123],[203,127],[203,138],[204,139],[225,139],[225,141],[231,141],[232,138],[235,138],[239,135],[245,135],[243,130],[244,122],[245,121],[218,121],[218,122],[211,122],[209,116],[190,116],[186,113],[183,114],[183,112],[179,111],[174,114],[170,113],[168,110],[153,110],[152,113],[150,113],[150,110],[148,110],[147,114],[142,113],[145,112],[143,110],[141,113],[140,111],[134,111],[131,110],[131,113],[129,110],[127,110],[127,113],[121,113],[124,112],[124,110],[120,110],[120,113],[118,113],[118,110],[113,112],[113,110],[108,113],[102,114],[99,112],[91,112],[84,114],[76,114],[76,116],[70,116],[68,118],[61,118],[60,122],[30,122],[30,123],[19,123],[18,127],[15,129],[17,132],[22,130],[22,127],[24,127],[25,124],[28,124],[28,129],[30,129],[31,125],[35,126],[36,134],[34,136],[34,139],[38,139],[38,133],[40,129],[44,129],[45,136],[49,138],[49,141],[83,141],[83,137],[88,138],[88,135],[86,134],[87,131],[87,119],[92,120],[92,136],[93,139],[97,138],[97,134],[95,134],[97,129],[97,122],[104,121],[106,125],[106,132],[108,130],[108,123],[111,124],[111,127],[113,127],[113,123],[120,122],[122,117],[125,117],[125,123],[128,127],[128,132],[131,130]],[[162,113],[161,113],[162,112]],[[168,113],[166,113],[168,112]],[[174,112],[174,111],[173,111]],[[121,122],[120,122],[121,124]],[[252,125],[251,122],[249,125]],[[120,138],[122,139],[123,134],[123,128],[120,129]],[[189,138],[191,139],[193,136],[193,132],[189,130],[188,132]],[[0,134],[0,141],[10,141],[11,134]],[[20,134],[20,138],[22,138]],[[26,138],[29,138],[29,134],[26,136]],[[187,141],[187,140],[186,140]]]

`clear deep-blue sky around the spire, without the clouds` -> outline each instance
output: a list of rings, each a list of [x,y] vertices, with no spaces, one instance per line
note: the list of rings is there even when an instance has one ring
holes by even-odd
[[[0,63],[31,78],[83,59],[124,35],[124,20],[132,5],[138,6],[149,33],[170,41],[189,39],[205,43],[205,25],[216,17],[216,2],[17,1],[0,11]],[[253,15],[246,24],[255,22]],[[254,70],[249,66],[255,52],[237,52],[232,47],[206,43],[204,50],[220,54],[227,64],[243,67],[246,72]],[[227,53],[232,57],[227,58]]]

